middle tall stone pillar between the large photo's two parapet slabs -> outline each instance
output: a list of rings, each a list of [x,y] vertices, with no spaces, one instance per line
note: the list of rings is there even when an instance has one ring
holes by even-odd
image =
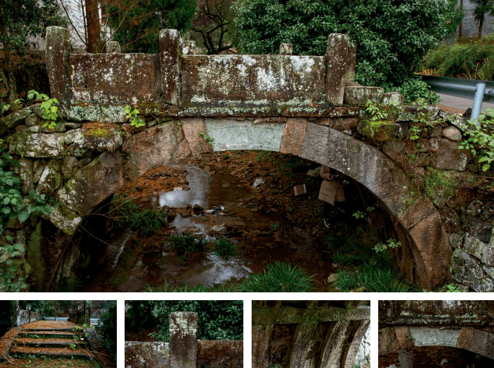
[[[160,68],[163,102],[178,105],[180,102],[180,55],[183,55],[180,32],[173,29],[160,31]]]

